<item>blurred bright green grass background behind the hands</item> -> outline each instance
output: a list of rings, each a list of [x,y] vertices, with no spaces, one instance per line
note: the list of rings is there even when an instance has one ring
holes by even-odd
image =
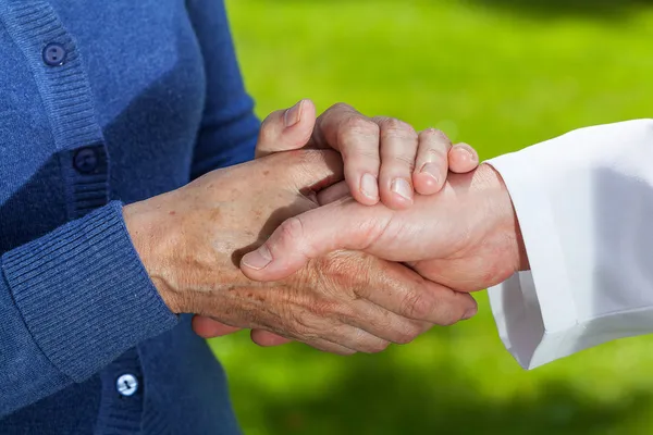
[[[643,0],[227,0],[258,113],[312,98],[416,128],[483,159],[569,129],[651,116]],[[649,3],[649,4],[648,4]],[[211,341],[246,434],[653,434],[653,339],[523,371],[480,314],[381,355]]]

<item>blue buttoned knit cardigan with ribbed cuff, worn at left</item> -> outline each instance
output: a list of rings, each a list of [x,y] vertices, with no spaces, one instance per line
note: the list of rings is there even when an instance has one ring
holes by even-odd
[[[238,433],[121,208],[249,160],[221,0],[0,0],[0,433]]]

